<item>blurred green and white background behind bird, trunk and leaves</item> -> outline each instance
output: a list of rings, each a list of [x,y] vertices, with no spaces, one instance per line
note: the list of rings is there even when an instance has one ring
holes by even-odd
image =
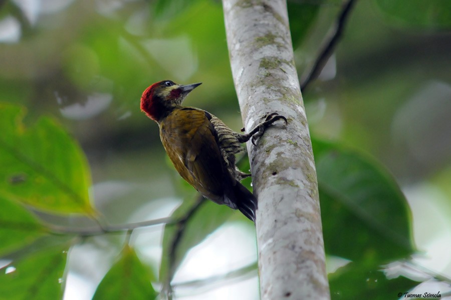
[[[310,25],[293,36],[303,78],[341,1],[289,2],[315,7]],[[382,0],[357,1],[304,102],[312,135],[369,154],[395,176],[413,215],[416,261],[449,277],[451,7],[432,1],[448,5],[447,14],[427,7],[417,13],[409,5],[421,1],[393,2],[399,6],[390,10]],[[292,9],[290,17],[306,16]],[[93,204],[111,223],[167,216],[195,196],[168,162],[157,124],[139,109],[142,91],[163,79],[202,82],[185,104],[242,127],[220,1],[0,1],[0,100],[27,107],[26,123],[52,115],[78,140],[92,172]],[[131,236],[155,274],[161,232],[155,226]],[[98,236],[72,248],[64,299],[90,299],[123,241]],[[258,298],[256,259],[255,229],[237,212],[190,250],[175,275],[177,298]],[[238,275],[220,276],[236,269]]]

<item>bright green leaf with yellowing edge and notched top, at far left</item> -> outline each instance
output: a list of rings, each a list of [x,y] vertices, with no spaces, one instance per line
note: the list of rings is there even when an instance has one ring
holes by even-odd
[[[88,163],[79,145],[47,117],[25,128],[24,112],[0,103],[0,194],[50,212],[93,214]]]

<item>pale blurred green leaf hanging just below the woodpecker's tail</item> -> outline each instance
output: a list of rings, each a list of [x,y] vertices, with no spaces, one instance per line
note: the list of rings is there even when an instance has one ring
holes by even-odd
[[[185,200],[172,213],[174,220],[183,221],[164,226],[160,281],[168,284],[193,246],[200,243],[233,215],[234,210],[197,196]]]

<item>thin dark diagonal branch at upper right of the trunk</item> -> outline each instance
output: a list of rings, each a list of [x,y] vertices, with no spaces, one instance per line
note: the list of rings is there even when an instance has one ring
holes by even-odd
[[[301,91],[305,91],[306,87],[311,83],[313,80],[315,80],[321,71],[323,70],[324,66],[326,65],[327,61],[329,60],[330,56],[335,50],[335,47],[338,44],[338,41],[340,40],[343,28],[346,24],[346,21],[349,18],[350,12],[352,7],[354,6],[356,0],[348,0],[344,5],[340,12],[340,15],[337,19],[337,22],[335,24],[334,31],[327,39],[326,44],[323,46],[323,49],[321,50],[320,54],[316,58],[315,64],[313,65],[312,69],[308,73],[305,80],[303,80],[301,85]]]

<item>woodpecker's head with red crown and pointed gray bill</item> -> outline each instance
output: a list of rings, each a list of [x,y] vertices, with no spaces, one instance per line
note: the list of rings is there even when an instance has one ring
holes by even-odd
[[[153,83],[142,93],[141,110],[158,122],[180,106],[185,96],[198,85],[200,83],[179,85],[171,80]]]

